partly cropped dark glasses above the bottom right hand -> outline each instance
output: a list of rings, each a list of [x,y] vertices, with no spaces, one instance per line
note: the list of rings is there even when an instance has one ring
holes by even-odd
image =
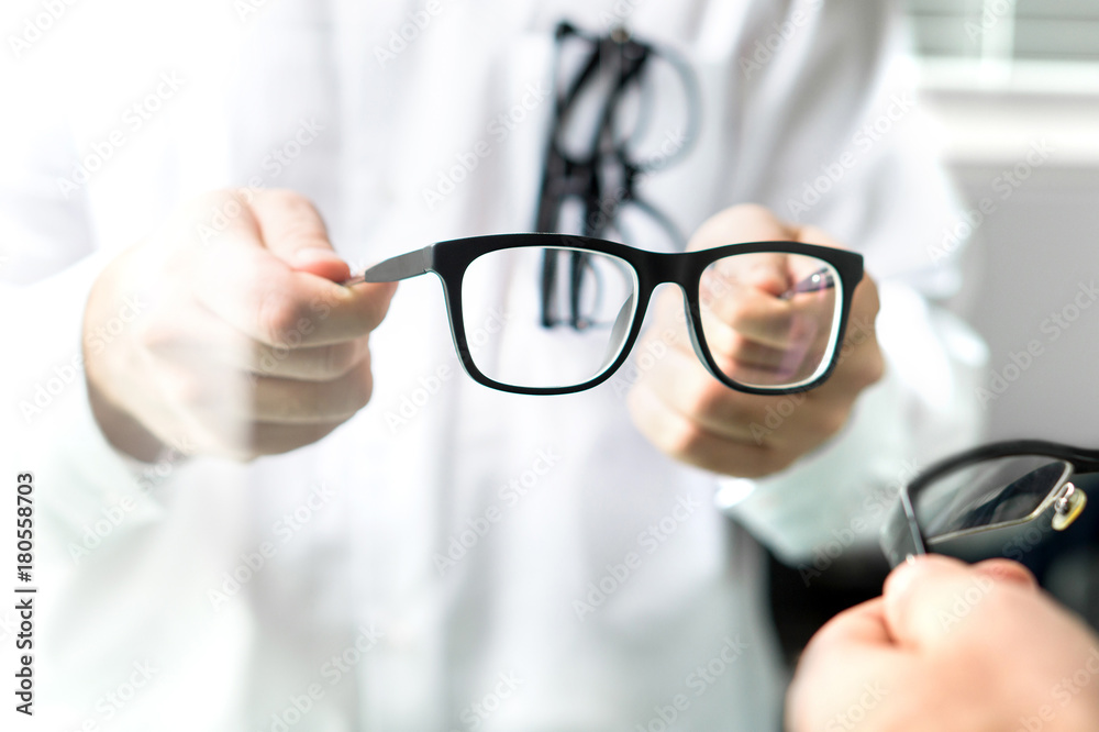
[[[896,567],[936,546],[1045,517],[1064,531],[1087,504],[1073,476],[1097,473],[1099,451],[1040,440],[959,453],[901,489],[881,528],[881,548]]]

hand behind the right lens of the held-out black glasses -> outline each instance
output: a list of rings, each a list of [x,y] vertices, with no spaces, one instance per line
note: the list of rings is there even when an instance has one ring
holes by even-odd
[[[737,206],[702,224],[688,248],[766,241],[839,246],[818,229],[782,223],[763,207]],[[759,312],[766,300],[779,300],[781,290],[775,289],[774,273],[766,266],[753,269],[757,270],[752,273],[753,292],[741,289],[729,296],[726,307],[713,308],[728,320],[732,334],[724,344],[728,353],[714,353],[719,359],[744,363],[768,355],[758,336],[743,328],[737,331],[735,325],[746,320],[739,309],[751,306]],[[630,412],[637,429],[663,452],[714,473],[761,477],[786,468],[837,433],[846,424],[856,397],[885,370],[874,332],[877,287],[865,275],[854,292],[835,370],[822,386],[801,395],[756,396],[718,381],[691,347],[682,308],[678,291],[666,291],[658,298],[656,323],[637,350],[662,356],[653,359],[631,389]],[[669,339],[669,333],[675,335]],[[714,351],[715,344],[710,345]],[[790,404],[778,412],[782,399]],[[773,414],[785,414],[780,424],[775,424]]]

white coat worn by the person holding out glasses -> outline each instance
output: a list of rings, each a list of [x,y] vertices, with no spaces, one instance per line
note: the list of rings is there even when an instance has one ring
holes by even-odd
[[[980,344],[928,300],[956,285],[931,255],[954,209],[888,73],[889,3],[66,13],[12,65],[0,163],[4,475],[37,481],[35,729],[776,729],[757,540],[807,566],[848,535],[873,542],[848,531],[877,518],[873,491],[978,424]],[[371,336],[370,404],[319,443],[248,465],[146,466],[110,448],[79,343],[111,257],[178,203],[256,184],[312,198],[356,266],[530,230],[551,113],[539,97],[566,16],[621,19],[696,69],[697,146],[644,184],[685,231],[757,201],[865,254],[889,368],[837,439],[765,480],[685,467],[632,426],[629,373],[560,398],[474,384],[423,277]],[[490,129],[524,101],[514,129]],[[490,154],[430,208],[424,189],[480,141]],[[108,159],[90,170],[93,154]]]

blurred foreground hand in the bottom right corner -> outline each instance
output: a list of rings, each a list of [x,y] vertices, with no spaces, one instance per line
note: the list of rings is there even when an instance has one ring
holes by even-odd
[[[1007,559],[928,555],[810,642],[789,732],[1095,732],[1099,637]]]

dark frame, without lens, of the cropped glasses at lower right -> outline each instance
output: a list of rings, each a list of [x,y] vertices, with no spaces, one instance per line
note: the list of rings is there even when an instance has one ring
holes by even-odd
[[[1006,529],[1033,521],[1048,510],[1050,506],[1052,506],[1056,500],[1056,492],[1061,490],[1074,475],[1090,475],[1092,473],[1099,473],[1099,450],[1076,447],[1074,445],[1050,442],[1046,440],[1004,440],[1000,442],[992,442],[972,447],[957,453],[956,455],[939,461],[931,467],[922,470],[908,484],[901,486],[900,492],[897,497],[898,503],[881,526],[881,551],[886,555],[886,558],[889,559],[889,563],[892,566],[897,566],[908,556],[929,553],[926,547],[932,540],[924,534],[923,526],[920,525],[914,508],[915,499],[924,489],[928,488],[928,486],[934,484],[943,476],[954,473],[955,470],[1000,457],[1048,457],[1053,461],[1066,463],[1070,469],[1066,475],[1062,476],[1056,488],[1052,489],[1039,507],[1025,518],[1004,521],[988,526],[951,532],[948,534],[943,534],[943,536],[936,536],[934,537],[935,540],[970,536],[986,531]],[[903,518],[903,523],[900,523],[899,521],[901,517]],[[913,551],[903,553],[899,551],[906,542]]]

